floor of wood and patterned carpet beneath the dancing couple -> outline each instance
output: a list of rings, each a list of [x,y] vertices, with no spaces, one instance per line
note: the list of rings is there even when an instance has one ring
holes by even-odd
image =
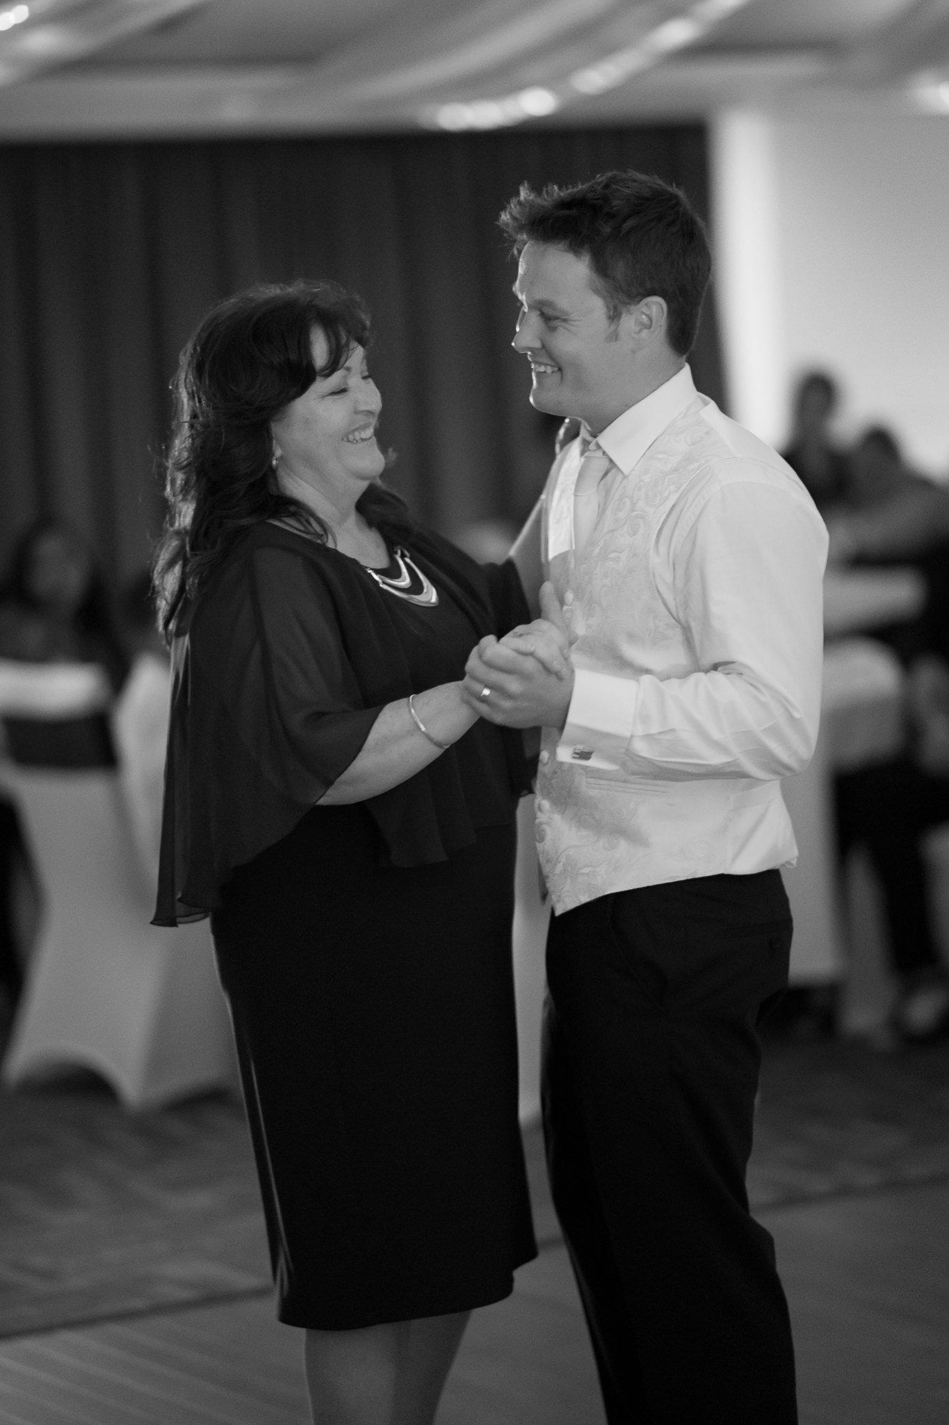
[[[949,1046],[768,1049],[751,1188],[802,1425],[949,1419],[946,1107]],[[542,1251],[475,1314],[440,1425],[603,1425],[536,1131],[526,1146]],[[0,1100],[3,1425],[304,1425],[248,1171],[226,1100],[129,1117],[88,1082]]]

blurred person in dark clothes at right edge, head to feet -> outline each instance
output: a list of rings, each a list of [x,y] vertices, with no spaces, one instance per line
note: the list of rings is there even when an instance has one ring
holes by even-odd
[[[899,754],[834,777],[841,865],[865,846],[879,881],[889,969],[889,1029],[926,1043],[949,1030],[949,976],[933,938],[925,834],[949,821],[949,489],[912,469],[885,426],[847,453],[842,499],[825,510],[829,559],[862,569],[911,567],[923,579],[919,614],[861,631],[905,668],[906,741]]]

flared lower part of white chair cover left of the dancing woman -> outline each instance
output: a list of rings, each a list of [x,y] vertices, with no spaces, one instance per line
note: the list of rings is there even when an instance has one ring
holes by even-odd
[[[208,922],[178,931],[148,923],[152,888],[117,774],[4,764],[0,779],[44,889],[3,1080],[84,1066],[134,1109],[236,1084]]]

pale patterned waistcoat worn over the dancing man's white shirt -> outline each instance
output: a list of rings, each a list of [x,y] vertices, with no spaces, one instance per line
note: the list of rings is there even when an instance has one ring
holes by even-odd
[[[728,456],[701,419],[699,396],[666,428],[629,476],[620,476],[585,549],[573,554],[579,442],[558,457],[545,500],[544,551],[572,631],[573,663],[619,677],[680,678],[700,671],[686,630],[653,579],[662,522],[711,460]],[[632,730],[630,730],[632,731]],[[559,748],[559,755],[558,755]],[[545,728],[536,788],[536,839],[555,912],[636,886],[761,865],[761,844],[797,855],[778,781],[643,777],[596,754],[561,745]],[[764,835],[763,835],[764,834]],[[768,865],[775,861],[768,859]]]

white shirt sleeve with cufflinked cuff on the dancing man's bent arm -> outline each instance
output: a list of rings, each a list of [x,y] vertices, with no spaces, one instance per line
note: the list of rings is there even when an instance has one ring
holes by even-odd
[[[820,721],[827,530],[753,459],[716,462],[652,551],[660,598],[694,660],[660,674],[576,657],[558,760],[683,778],[788,777]]]

